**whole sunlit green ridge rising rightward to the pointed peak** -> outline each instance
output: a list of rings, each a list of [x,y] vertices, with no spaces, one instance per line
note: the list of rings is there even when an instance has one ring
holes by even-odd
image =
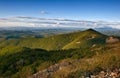
[[[85,31],[77,31],[68,34],[61,34],[56,36],[50,36],[47,38],[24,38],[24,39],[12,39],[0,44],[0,47],[5,46],[21,46],[29,48],[41,48],[46,50],[58,50],[79,48],[81,46],[86,47],[93,44],[103,44],[105,41],[105,35],[98,33],[92,29]]]

